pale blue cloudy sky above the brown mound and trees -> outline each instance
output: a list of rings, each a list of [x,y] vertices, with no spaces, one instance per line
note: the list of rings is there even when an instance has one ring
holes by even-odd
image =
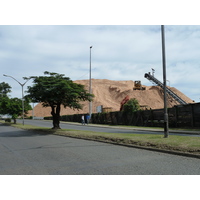
[[[21,86],[3,74],[21,83],[44,71],[89,79],[90,46],[94,79],[141,80],[149,86],[144,74],[153,68],[163,81],[160,25],[1,25],[0,82],[20,98]],[[165,25],[165,51],[167,84],[199,102],[200,26]]]

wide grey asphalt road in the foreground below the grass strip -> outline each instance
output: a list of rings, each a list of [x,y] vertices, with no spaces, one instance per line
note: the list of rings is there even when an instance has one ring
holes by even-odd
[[[200,159],[0,124],[1,175],[200,175]]]

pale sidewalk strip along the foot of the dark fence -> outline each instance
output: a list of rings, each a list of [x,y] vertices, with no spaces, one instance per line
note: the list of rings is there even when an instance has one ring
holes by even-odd
[[[82,124],[78,123],[78,122],[61,121],[61,123],[74,124],[74,125],[82,126]],[[89,125],[86,125],[86,126],[101,127],[101,128],[113,128],[113,129],[126,129],[126,130],[136,130],[136,131],[152,131],[152,132],[163,132],[164,131],[164,129],[162,129],[162,128],[152,128],[152,127],[128,127],[128,126],[104,125],[104,124],[89,124]],[[191,131],[191,130],[169,129],[169,133],[200,135],[200,131]]]

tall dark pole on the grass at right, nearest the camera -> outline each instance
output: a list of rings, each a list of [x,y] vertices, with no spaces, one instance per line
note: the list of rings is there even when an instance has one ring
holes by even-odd
[[[162,63],[163,63],[163,85],[164,85],[164,138],[168,138],[169,123],[168,123],[168,112],[167,112],[165,28],[164,28],[164,25],[161,25],[161,37],[162,37]]]

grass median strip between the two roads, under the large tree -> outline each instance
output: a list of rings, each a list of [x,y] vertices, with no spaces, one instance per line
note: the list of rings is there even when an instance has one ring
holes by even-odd
[[[147,149],[152,148],[166,151],[189,153],[193,155],[198,155],[200,157],[200,137],[170,135],[169,138],[163,138],[163,135],[153,134],[100,133],[70,129],[52,130],[49,128],[36,127],[31,125],[11,125],[20,129],[37,131],[37,133],[41,134],[55,134],[60,136],[94,140],[112,144],[143,147]]]

